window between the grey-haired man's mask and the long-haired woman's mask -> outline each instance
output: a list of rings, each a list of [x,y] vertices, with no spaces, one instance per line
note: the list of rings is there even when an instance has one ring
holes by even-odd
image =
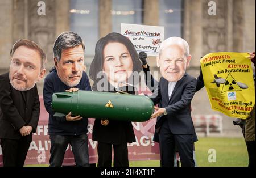
[[[85,63],[90,63],[94,56],[95,45],[100,39],[98,0],[71,0],[69,12],[70,29],[84,40],[85,56],[88,57]]]

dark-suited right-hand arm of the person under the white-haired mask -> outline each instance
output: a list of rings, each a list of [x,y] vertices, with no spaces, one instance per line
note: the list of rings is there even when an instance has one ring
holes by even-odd
[[[191,100],[195,94],[195,91],[196,91],[196,79],[193,79],[192,81],[186,84],[183,94],[181,95],[181,100],[177,101],[172,105],[168,105],[165,108],[168,115],[172,115],[177,111],[181,111],[189,103],[191,103]]]

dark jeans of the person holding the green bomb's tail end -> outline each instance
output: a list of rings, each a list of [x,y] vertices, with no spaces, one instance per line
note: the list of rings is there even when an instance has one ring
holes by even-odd
[[[88,137],[86,134],[76,136],[50,135],[50,166],[62,166],[68,144],[72,146],[76,166],[89,166]]]

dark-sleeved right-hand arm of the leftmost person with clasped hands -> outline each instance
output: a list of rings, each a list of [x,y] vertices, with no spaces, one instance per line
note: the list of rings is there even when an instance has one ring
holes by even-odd
[[[38,126],[39,115],[40,115],[40,101],[38,96],[38,88],[36,87],[36,85],[34,88],[34,92],[35,92],[35,98],[34,98],[34,104],[32,108],[32,115],[31,115],[31,120],[28,123],[28,126],[32,127],[32,133],[36,132],[36,127]]]

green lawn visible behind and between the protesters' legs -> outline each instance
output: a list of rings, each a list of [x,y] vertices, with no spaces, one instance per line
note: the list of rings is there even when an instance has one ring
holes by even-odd
[[[221,138],[221,137],[202,137],[195,143],[197,165],[203,166],[247,166],[248,157],[245,141],[243,138]],[[208,156],[212,157],[209,149],[216,150],[216,162],[208,162]],[[129,162],[131,167],[151,167],[159,166],[159,160],[134,161]],[[48,166],[48,165],[27,165],[27,166]]]

